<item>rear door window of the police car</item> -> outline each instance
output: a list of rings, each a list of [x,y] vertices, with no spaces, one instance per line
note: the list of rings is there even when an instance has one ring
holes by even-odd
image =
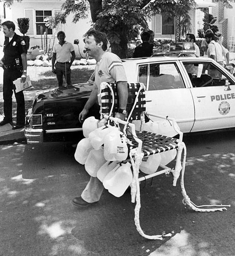
[[[175,63],[155,63],[150,64],[149,68],[148,90],[185,88]]]

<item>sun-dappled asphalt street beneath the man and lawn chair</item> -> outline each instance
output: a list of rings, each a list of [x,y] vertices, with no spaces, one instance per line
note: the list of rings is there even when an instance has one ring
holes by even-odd
[[[140,225],[136,231],[129,193],[104,191],[100,202],[71,204],[89,176],[69,144],[0,145],[1,256],[232,256],[235,207],[234,132],[185,136],[185,188],[195,204],[231,204],[223,212],[193,212],[182,204],[172,177],[141,183]],[[152,183],[152,184],[151,184]]]

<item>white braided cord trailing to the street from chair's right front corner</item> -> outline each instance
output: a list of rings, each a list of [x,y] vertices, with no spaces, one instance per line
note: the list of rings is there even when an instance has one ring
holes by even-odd
[[[183,195],[183,204],[188,205],[191,209],[196,212],[215,212],[215,211],[223,211],[226,210],[226,207],[231,207],[231,205],[195,205],[189,198],[186,193],[185,186],[184,186],[184,173],[185,173],[185,163],[186,163],[186,146],[182,142],[183,146],[183,163],[182,163],[182,174],[181,174],[181,193]],[[216,207],[216,208],[205,208],[202,207]]]

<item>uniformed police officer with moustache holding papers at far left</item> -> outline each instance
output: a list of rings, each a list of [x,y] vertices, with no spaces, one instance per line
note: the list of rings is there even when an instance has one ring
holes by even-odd
[[[17,35],[14,31],[16,26],[10,20],[1,24],[4,41],[4,56],[0,60],[0,66],[3,67],[3,110],[4,119],[0,122],[0,126],[10,123],[12,129],[24,127],[24,94],[23,91],[17,92],[14,89],[13,81],[21,77],[21,81],[26,81],[27,75],[27,47],[24,39]],[[12,94],[14,94],[17,102],[16,124],[12,124]]]

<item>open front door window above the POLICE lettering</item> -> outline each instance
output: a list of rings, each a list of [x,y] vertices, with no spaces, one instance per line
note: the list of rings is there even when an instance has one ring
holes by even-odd
[[[212,63],[183,62],[193,87],[224,86],[234,82]]]

